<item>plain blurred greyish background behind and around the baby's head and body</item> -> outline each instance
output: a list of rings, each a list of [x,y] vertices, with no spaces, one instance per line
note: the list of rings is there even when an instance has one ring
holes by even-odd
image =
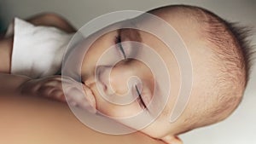
[[[0,31],[14,17],[26,19],[42,12],[55,12],[78,29],[86,22],[117,10],[147,11],[169,4],[191,4],[211,10],[225,20],[254,27],[252,43],[256,45],[255,0],[0,0]],[[256,49],[255,49],[256,50]],[[256,62],[254,60],[254,64]],[[240,107],[221,123],[181,135],[185,144],[255,144],[256,143],[256,66]]]

